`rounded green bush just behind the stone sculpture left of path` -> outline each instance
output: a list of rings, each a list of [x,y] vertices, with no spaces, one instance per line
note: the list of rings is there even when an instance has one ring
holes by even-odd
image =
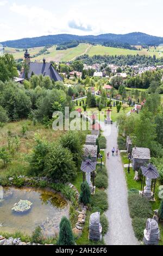
[[[98,207],[101,212],[108,210],[108,197],[104,191],[97,191],[91,199],[91,207]]]

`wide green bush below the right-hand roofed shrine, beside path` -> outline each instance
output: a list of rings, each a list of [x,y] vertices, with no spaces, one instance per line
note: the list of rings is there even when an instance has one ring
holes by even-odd
[[[150,202],[145,198],[141,197],[139,194],[131,193],[128,197],[130,216],[131,218],[151,218],[152,217],[152,207]]]

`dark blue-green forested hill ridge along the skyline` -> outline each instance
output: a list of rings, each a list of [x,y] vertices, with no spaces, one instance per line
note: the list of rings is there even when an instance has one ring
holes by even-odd
[[[102,35],[70,35],[70,34],[59,34],[59,35],[47,35],[36,38],[23,38],[19,40],[1,42],[3,46],[14,47],[14,48],[30,48],[47,45],[62,44],[63,42],[69,41],[83,41],[95,44],[104,44],[105,42],[117,42],[121,44],[130,45],[159,45],[163,44],[163,38],[153,35],[147,35],[140,32],[134,32],[129,34],[102,34]]]

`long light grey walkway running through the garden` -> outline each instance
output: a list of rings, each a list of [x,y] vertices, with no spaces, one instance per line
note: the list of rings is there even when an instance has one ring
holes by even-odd
[[[105,128],[102,124],[102,129]],[[111,149],[117,147],[116,125],[109,125],[103,132],[107,139],[106,153],[110,152],[110,159],[106,160],[109,174],[108,200],[109,210],[105,213],[109,221],[109,231],[105,235],[106,245],[139,245],[136,240],[127,202],[127,184],[121,156],[112,156]]]

